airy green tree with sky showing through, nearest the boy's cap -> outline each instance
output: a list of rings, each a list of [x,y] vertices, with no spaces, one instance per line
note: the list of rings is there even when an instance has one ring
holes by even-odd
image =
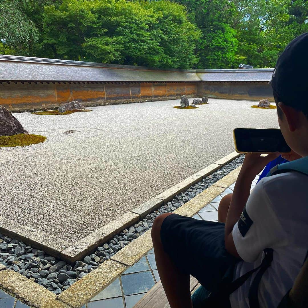
[[[297,35],[307,31],[306,5],[302,5],[304,2],[233,0],[237,15],[231,26],[237,31],[239,42],[236,61],[254,67],[274,67],[285,46]]]

